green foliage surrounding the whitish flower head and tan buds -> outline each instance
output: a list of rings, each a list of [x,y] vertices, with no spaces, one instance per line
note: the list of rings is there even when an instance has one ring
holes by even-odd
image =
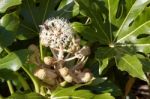
[[[115,99],[126,91],[129,75],[149,83],[149,4],[149,0],[0,0],[0,83],[10,80],[15,87],[8,99]],[[27,47],[34,43],[41,57],[48,53],[38,42],[39,25],[54,17],[70,20],[83,45],[91,47],[85,66],[95,79],[50,93],[33,76]]]

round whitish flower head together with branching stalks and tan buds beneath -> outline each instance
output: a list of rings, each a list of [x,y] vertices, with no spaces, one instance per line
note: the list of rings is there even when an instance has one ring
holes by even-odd
[[[92,74],[83,69],[90,54],[90,48],[80,47],[80,38],[74,34],[70,24],[65,19],[54,18],[46,20],[40,27],[40,43],[49,47],[53,54],[52,57],[44,57],[44,63],[55,71],[53,74],[68,83],[90,81]]]

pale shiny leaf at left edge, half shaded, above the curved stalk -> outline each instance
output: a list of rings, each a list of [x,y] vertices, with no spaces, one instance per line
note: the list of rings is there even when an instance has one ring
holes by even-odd
[[[9,69],[17,71],[27,60],[27,50],[11,52],[4,58],[0,59],[0,69]]]

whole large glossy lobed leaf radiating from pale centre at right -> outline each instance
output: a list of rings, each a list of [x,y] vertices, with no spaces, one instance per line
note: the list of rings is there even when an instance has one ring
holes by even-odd
[[[117,57],[116,64],[120,70],[147,81],[135,52],[150,53],[150,0],[76,2],[80,11],[90,17],[91,21],[89,26],[74,23],[74,29],[88,41],[105,44],[105,47],[100,46],[97,49],[96,57],[100,61]],[[105,65],[104,67],[106,68]]]

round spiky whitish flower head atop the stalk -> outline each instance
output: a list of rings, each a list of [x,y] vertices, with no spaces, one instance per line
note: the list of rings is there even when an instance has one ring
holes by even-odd
[[[46,47],[65,48],[73,38],[73,29],[65,19],[48,19],[40,27],[40,42]]]

